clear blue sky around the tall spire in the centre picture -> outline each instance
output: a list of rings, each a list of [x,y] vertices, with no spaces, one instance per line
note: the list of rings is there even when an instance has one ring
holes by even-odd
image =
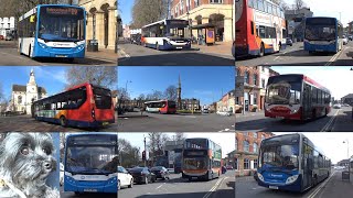
[[[131,98],[145,96],[153,90],[164,91],[170,85],[178,87],[181,76],[182,98],[200,99],[201,105],[218,101],[223,94],[235,87],[235,67],[233,66],[119,66],[118,86],[126,87]]]

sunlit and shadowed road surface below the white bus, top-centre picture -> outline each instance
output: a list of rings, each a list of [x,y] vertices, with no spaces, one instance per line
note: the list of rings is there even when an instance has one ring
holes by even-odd
[[[119,66],[234,66],[232,44],[192,45],[191,50],[157,51],[119,40]]]

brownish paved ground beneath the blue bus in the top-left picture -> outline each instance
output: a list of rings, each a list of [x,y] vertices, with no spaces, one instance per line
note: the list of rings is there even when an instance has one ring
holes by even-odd
[[[118,55],[114,50],[99,48],[98,52],[86,52],[85,58],[67,62],[62,58],[32,59],[18,52],[17,41],[0,41],[0,65],[4,66],[117,66]]]

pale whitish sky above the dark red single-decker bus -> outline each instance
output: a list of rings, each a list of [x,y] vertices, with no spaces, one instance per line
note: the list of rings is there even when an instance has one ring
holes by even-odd
[[[351,66],[272,66],[279,74],[303,74],[327,87],[335,100],[353,94]]]

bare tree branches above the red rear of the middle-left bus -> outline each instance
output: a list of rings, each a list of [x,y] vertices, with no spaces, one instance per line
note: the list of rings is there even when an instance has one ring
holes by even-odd
[[[66,69],[67,86],[92,82],[113,88],[117,84],[118,68],[109,66],[82,67],[71,66]]]

